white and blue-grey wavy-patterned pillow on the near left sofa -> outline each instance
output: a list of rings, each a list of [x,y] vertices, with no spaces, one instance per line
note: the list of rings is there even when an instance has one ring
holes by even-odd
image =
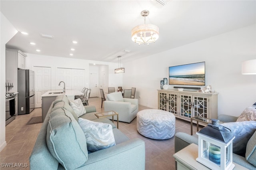
[[[116,145],[110,124],[82,118],[78,118],[78,124],[84,131],[88,151],[95,152]]]

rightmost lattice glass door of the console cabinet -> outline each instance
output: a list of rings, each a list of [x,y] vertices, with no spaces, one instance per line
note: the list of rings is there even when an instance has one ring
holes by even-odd
[[[193,96],[194,116],[209,118],[209,97]]]

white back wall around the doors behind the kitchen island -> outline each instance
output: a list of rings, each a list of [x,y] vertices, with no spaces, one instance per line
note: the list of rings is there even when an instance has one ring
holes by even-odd
[[[47,56],[47,55],[36,55],[26,53],[28,55],[26,57],[26,69],[33,70],[34,66],[40,67],[51,67],[51,75],[52,75],[52,90],[55,90],[58,86],[59,82],[56,82],[56,68],[76,68],[76,69],[85,69],[85,86],[89,87],[89,73],[90,73],[90,63],[96,63],[99,65],[108,65],[108,85],[109,86],[118,86],[122,85],[122,75],[120,74],[112,74],[114,73],[114,69],[116,68],[116,63],[103,62],[103,61],[92,61],[85,59],[74,59],[74,58],[66,58],[66,57],[55,57],[55,56]],[[92,67],[93,68],[93,67]]]

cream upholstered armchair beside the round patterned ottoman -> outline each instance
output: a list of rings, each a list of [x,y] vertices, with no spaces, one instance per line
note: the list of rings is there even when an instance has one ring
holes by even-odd
[[[130,123],[136,117],[138,109],[138,99],[123,98],[121,92],[109,93],[104,101],[104,111],[117,112],[121,122]]]

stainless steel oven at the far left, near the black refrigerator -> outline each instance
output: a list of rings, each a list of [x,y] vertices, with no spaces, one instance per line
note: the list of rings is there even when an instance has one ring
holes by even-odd
[[[5,99],[5,125],[15,119],[15,96]]]

